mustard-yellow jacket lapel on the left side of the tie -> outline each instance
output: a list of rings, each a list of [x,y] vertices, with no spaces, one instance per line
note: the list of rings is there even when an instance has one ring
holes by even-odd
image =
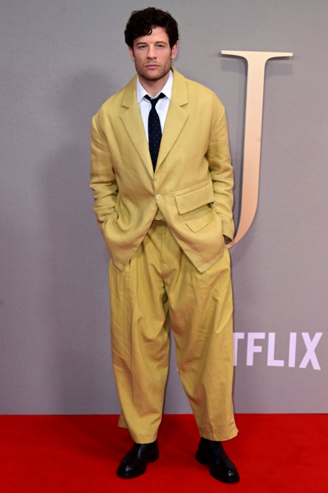
[[[144,124],[142,123],[139,105],[136,98],[136,76],[124,89],[121,105],[127,108],[120,116],[126,131],[148,173],[153,178],[154,169],[149,153]]]

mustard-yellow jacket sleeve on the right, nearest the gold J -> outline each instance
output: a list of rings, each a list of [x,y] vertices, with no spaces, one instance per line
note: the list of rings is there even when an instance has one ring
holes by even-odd
[[[233,168],[229,150],[226,112],[218,98],[213,103],[212,125],[206,158],[214,189],[214,207],[222,220],[222,233],[232,241],[235,226],[232,216]]]

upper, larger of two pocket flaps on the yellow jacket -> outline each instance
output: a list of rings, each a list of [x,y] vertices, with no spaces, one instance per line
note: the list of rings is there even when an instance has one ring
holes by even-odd
[[[175,200],[180,214],[193,211],[214,201],[213,185],[206,180],[185,188],[175,193]]]

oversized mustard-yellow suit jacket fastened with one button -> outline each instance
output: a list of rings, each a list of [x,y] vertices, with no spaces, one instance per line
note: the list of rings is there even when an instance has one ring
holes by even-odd
[[[232,239],[233,170],[224,107],[173,69],[155,173],[136,100],[136,76],[92,119],[94,212],[115,266],[138,249],[158,210],[198,271]],[[158,216],[156,216],[158,217]]]

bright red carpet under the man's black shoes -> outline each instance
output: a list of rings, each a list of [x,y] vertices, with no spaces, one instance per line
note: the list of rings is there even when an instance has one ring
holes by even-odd
[[[166,415],[159,460],[144,476],[115,470],[131,441],[117,416],[0,416],[1,493],[327,493],[327,416],[237,414],[237,438],[226,450],[241,481],[226,485],[195,461],[191,415]]]

